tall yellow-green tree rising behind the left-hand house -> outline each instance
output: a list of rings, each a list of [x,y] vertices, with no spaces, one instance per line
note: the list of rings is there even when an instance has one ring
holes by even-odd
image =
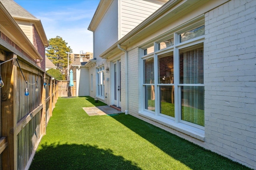
[[[66,68],[68,67],[68,53],[72,53],[72,49],[70,46],[67,46],[68,43],[60,36],[51,38],[48,42],[49,47],[46,49],[46,57],[57,66],[62,74],[66,74]]]

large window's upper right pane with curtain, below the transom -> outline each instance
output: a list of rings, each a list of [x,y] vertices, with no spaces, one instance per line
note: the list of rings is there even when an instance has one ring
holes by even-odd
[[[180,49],[180,83],[204,84],[203,44]]]

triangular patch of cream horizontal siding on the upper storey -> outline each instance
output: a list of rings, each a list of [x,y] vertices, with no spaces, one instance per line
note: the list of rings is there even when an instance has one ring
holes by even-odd
[[[118,39],[124,37],[161,6],[144,0],[120,0]]]

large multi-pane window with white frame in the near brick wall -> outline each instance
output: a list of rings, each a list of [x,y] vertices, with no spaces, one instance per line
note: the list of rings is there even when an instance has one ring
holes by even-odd
[[[204,25],[170,34],[142,53],[143,111],[203,129]]]

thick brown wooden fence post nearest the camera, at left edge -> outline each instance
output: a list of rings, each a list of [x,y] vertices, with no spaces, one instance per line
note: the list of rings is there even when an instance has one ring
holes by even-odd
[[[14,57],[8,55],[7,59]],[[2,168],[4,170],[17,169],[17,137],[14,136],[14,122],[16,125],[16,89],[17,67],[12,62],[4,63],[1,67],[2,80],[2,136],[7,137],[8,147],[2,152]],[[19,94],[19,93],[18,93]],[[17,96],[20,98],[20,96]]]

